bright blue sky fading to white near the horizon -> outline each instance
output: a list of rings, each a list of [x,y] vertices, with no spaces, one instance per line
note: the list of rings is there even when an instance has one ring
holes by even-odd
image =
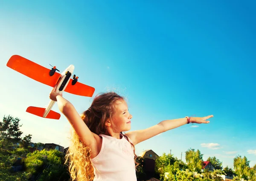
[[[1,1],[0,116],[21,119],[32,141],[69,146],[70,125],[26,113],[43,107],[51,88],[6,67],[13,54],[63,71],[75,65],[95,94],[128,100],[132,130],[166,119],[214,115],[136,146],[180,158],[189,148],[233,167],[256,164],[256,3],[253,1]],[[92,98],[64,93],[79,113]],[[53,110],[58,111],[57,105]],[[195,127],[198,126],[198,127]]]

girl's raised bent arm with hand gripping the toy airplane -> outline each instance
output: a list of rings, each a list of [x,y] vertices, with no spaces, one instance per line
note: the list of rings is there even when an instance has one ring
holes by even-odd
[[[98,135],[91,132],[84,121],[81,119],[79,113],[76,111],[75,107],[67,100],[62,97],[61,94],[55,92],[55,88],[52,89],[50,93],[50,99],[53,101],[57,101],[58,108],[61,113],[66,116],[67,120],[70,122],[71,126],[74,128],[76,133],[79,136],[81,142],[90,147],[92,150],[91,156],[93,157],[94,154],[98,154],[101,148],[101,139]],[[99,147],[100,145],[100,147]]]

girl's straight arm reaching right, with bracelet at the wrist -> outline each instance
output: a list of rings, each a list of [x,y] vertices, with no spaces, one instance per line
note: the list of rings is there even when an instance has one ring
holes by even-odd
[[[207,119],[212,118],[213,115],[206,116],[206,117],[191,117],[190,122],[191,123],[209,123]],[[142,141],[145,141],[147,139],[152,138],[153,136],[156,136],[160,133],[163,133],[168,130],[172,130],[176,127],[180,127],[184,124],[188,123],[188,118],[180,118],[180,119],[172,119],[172,120],[165,120],[162,121],[152,127],[149,127],[145,130],[137,130],[137,131],[131,131],[126,133],[126,135],[131,139],[133,144],[138,144]]]

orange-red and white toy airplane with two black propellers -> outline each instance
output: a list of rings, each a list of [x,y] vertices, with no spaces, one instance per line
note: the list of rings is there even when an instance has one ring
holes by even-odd
[[[68,66],[65,71],[59,74],[56,72],[59,70],[55,66],[50,70],[19,55],[13,55],[7,62],[7,66],[43,84],[51,87],[57,85],[57,93],[65,91],[79,96],[91,97],[95,91],[95,88],[77,82],[78,76],[76,75],[70,79],[75,68],[74,65]],[[61,115],[51,110],[54,104],[55,101],[51,100],[46,108],[30,106],[26,112],[43,118],[60,119]]]

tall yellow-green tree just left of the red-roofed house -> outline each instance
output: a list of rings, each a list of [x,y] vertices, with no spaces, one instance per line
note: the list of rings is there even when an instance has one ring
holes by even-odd
[[[189,149],[186,151],[186,162],[192,172],[201,172],[203,167],[203,154],[199,150]]]

